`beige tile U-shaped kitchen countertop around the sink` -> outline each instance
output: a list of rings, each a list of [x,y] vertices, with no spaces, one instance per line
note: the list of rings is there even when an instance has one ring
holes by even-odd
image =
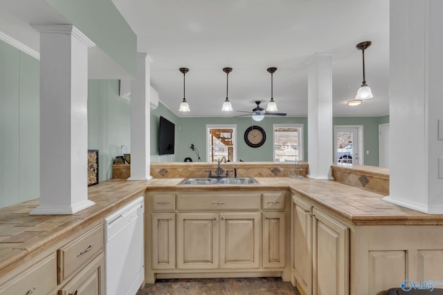
[[[309,178],[256,178],[260,185],[192,186],[177,184],[182,178],[127,182],[107,180],[89,187],[95,205],[69,216],[30,216],[39,200],[30,200],[0,209],[0,274],[42,246],[61,238],[82,223],[105,218],[125,202],[140,196],[145,189],[156,191],[247,191],[292,189],[302,198],[321,205],[330,213],[355,225],[443,225],[443,215],[428,215],[383,202],[383,196],[329,180]]]

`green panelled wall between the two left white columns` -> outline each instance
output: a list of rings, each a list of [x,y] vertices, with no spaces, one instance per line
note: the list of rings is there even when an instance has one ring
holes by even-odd
[[[131,151],[131,107],[120,98],[118,80],[88,81],[88,149],[98,149],[98,180],[112,178],[121,146]]]

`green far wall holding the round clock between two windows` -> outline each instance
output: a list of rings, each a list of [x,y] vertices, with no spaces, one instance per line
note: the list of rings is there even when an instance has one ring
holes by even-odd
[[[304,159],[307,159],[307,117],[266,117],[260,122],[253,121],[251,117],[191,117],[179,120],[179,161],[186,157],[197,161],[197,155],[190,149],[194,144],[201,161],[206,162],[206,124],[237,124],[237,161],[245,162],[273,161],[273,124],[303,124],[303,151]],[[244,142],[244,131],[251,125],[260,126],[266,132],[266,142],[259,148],[251,148]]]

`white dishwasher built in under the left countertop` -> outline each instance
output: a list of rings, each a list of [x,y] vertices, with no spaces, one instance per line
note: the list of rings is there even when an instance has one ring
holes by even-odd
[[[105,294],[135,295],[145,277],[143,197],[105,218]]]

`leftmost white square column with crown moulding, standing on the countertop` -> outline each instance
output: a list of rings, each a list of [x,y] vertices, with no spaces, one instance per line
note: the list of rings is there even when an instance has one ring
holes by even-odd
[[[72,25],[40,32],[40,205],[37,214],[73,214],[88,200],[88,48]]]

